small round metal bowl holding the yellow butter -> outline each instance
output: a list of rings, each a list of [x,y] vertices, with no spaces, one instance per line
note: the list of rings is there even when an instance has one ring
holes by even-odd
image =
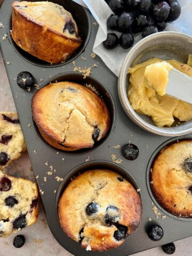
[[[143,38],[127,54],[118,79],[118,94],[126,114],[135,124],[148,132],[171,137],[186,135],[192,132],[192,121],[174,122],[171,127],[156,126],[151,117],[134,111],[127,97],[129,87],[129,74],[127,74],[127,71],[130,67],[155,57],[163,60],[174,59],[187,63],[188,54],[191,53],[191,49],[192,37],[182,33],[164,31]]]

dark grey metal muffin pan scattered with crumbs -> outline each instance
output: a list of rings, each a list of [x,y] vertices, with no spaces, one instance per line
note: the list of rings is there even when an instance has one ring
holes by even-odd
[[[82,79],[82,76],[78,73],[73,72],[73,58],[70,62],[67,61],[61,65],[54,66],[48,64],[45,65],[45,63],[39,64],[37,63],[38,61],[35,62],[34,58],[30,57],[30,55],[28,55],[28,59],[21,56],[21,51],[18,50],[17,47],[13,46],[13,42],[9,34],[9,30],[11,28],[11,2],[11,0],[4,1],[0,10],[0,22],[4,25],[4,28],[0,29],[1,50],[15,106],[17,107],[22,131],[26,140],[31,165],[33,167],[35,177],[38,177],[36,178],[36,182],[39,190],[41,191],[40,195],[47,222],[49,223],[52,234],[57,241],[65,247],[66,250],[76,256],[84,256],[85,254],[94,256],[116,256],[117,254],[121,254],[122,256],[125,256],[191,236],[192,222],[189,219],[180,221],[177,218],[173,218],[170,214],[167,214],[164,220],[160,217],[156,219],[151,202],[154,202],[162,215],[165,214],[165,211],[157,204],[155,198],[151,196],[151,192],[147,185],[148,181],[146,179],[146,175],[149,168],[148,163],[151,163],[149,161],[151,156],[153,156],[154,151],[159,147],[161,148],[161,145],[166,145],[169,141],[167,141],[167,137],[151,134],[142,130],[139,126],[135,125],[129,117],[127,117],[118,98],[117,77],[111,73],[99,57],[92,59],[90,56],[98,27],[93,25],[95,20],[89,11],[84,12],[88,13],[87,15],[89,18],[87,18],[87,20],[91,20],[89,24],[87,23],[91,36],[84,50],[79,55],[77,53],[77,55],[74,56],[74,60],[77,67],[86,66],[88,68],[92,67],[94,63],[98,64],[98,67],[92,67],[92,74],[90,77],[87,77],[85,82],[90,79],[91,83],[94,83],[95,88],[98,89],[99,93],[106,101],[112,118],[111,129],[108,132],[107,137],[98,142],[98,145],[94,148],[70,153],[57,150],[50,145],[47,145],[47,143],[42,139],[31,117],[31,99],[36,89],[34,88],[30,92],[22,90],[17,85],[17,81],[15,79],[17,78],[18,73],[21,71],[29,71],[34,75],[36,84],[41,83],[42,86],[45,86],[49,82],[54,82],[57,79],[59,81],[59,79],[62,78],[68,78],[70,80],[72,79],[73,81],[80,82],[84,82],[84,79]],[[61,0],[52,2],[61,5],[62,3],[65,3],[65,1]],[[84,10],[83,7],[72,1],[66,2],[69,6],[73,6],[73,10],[77,14],[76,17],[78,17],[78,15],[82,15]],[[67,5],[66,9],[69,10]],[[75,20],[76,17],[74,15]],[[84,17],[80,17],[79,20],[82,20],[83,22],[83,19]],[[77,25],[79,26],[78,23]],[[2,39],[4,34],[9,35],[6,40]],[[83,60],[81,57],[86,57],[87,59]],[[7,62],[10,64],[7,64]],[[43,79],[43,82],[40,82],[40,79],[41,81]],[[179,137],[179,140],[182,138],[191,138],[191,136]],[[126,160],[122,154],[123,146],[129,142],[137,145],[139,148],[139,157],[135,159],[135,161]],[[115,145],[121,145],[121,149],[115,149],[113,147]],[[123,159],[121,164],[113,163],[113,160],[111,159],[112,154],[115,154],[117,159]],[[48,165],[45,164],[46,162],[48,162]],[[140,188],[143,207],[142,220],[138,230],[128,236],[121,246],[102,253],[92,251],[86,252],[85,249],[81,248],[81,244],[78,244],[67,237],[60,226],[57,209],[59,197],[63,188],[65,188],[67,183],[70,181],[70,178],[84,170],[93,169],[94,166],[95,168],[105,167],[114,170],[130,180],[135,188]],[[47,172],[52,169],[52,175],[47,175]],[[57,182],[55,179],[56,176],[62,177],[64,180],[62,182]],[[47,177],[46,182],[44,181],[44,177]],[[119,186],[121,186],[121,183],[119,183]],[[54,193],[54,190],[57,191]],[[151,218],[152,221],[148,221],[148,218]],[[151,241],[146,233],[147,228],[154,223],[162,226],[164,230],[164,237],[158,242]]]

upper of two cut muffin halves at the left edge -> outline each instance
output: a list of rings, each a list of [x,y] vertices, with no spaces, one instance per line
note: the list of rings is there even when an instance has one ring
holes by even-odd
[[[17,113],[0,112],[0,170],[26,150]]]

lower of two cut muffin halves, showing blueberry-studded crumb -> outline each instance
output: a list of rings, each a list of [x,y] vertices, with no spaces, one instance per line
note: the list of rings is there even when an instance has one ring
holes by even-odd
[[[32,225],[38,216],[35,183],[0,172],[0,237]]]

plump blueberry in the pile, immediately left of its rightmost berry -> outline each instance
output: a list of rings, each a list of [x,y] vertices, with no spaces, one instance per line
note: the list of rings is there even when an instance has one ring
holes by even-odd
[[[166,2],[158,3],[153,7],[154,18],[158,22],[162,22],[166,20],[166,18],[169,16],[169,13],[170,13],[170,6]]]

